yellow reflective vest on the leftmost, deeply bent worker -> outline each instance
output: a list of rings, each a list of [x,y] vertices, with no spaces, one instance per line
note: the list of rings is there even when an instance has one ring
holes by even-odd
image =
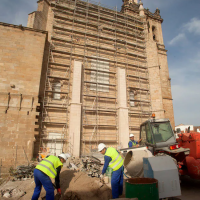
[[[63,166],[62,162],[57,156],[49,156],[42,160],[37,166],[36,169],[44,172],[47,176],[55,178],[57,176],[57,169],[59,166]]]

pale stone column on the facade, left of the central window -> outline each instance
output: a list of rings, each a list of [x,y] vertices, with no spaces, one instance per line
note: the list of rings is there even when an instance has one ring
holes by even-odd
[[[75,157],[80,156],[81,132],[81,73],[82,62],[74,61],[72,100],[69,117],[69,145],[70,153]]]

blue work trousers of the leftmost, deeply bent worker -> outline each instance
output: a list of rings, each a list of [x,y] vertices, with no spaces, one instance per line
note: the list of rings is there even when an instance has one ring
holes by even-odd
[[[35,190],[31,200],[38,200],[42,186],[46,190],[46,200],[54,200],[54,187],[49,176],[34,169]]]

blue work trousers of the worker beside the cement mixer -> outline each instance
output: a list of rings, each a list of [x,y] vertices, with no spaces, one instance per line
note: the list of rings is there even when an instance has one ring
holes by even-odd
[[[117,171],[113,171],[111,178],[113,199],[119,198],[123,193],[123,166]]]

